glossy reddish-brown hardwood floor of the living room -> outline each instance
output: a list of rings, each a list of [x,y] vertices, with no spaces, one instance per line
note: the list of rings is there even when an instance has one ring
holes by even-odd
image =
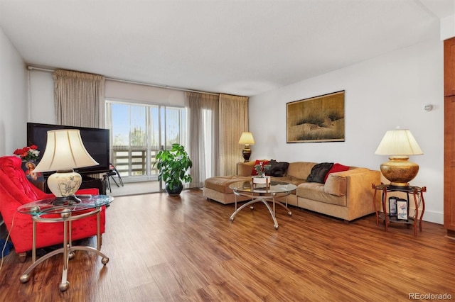
[[[277,207],[279,229],[257,203],[230,222],[233,205],[148,194],[107,208],[100,257],[78,251],[61,293],[62,256],[19,277],[31,264],[14,252],[0,271],[0,301],[409,301],[410,293],[455,299],[455,240],[442,225],[391,225],[375,216],[349,224]],[[95,247],[95,239],[87,240]],[[414,294],[414,297],[416,294]],[[430,296],[427,300],[437,300]]]

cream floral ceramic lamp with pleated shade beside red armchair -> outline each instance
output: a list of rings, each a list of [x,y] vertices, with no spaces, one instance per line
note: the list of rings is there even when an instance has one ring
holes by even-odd
[[[43,158],[34,171],[56,171],[48,177],[48,188],[55,195],[53,204],[73,204],[80,202],[75,192],[82,183],[82,177],[73,169],[97,164],[85,149],[79,130],[50,130]]]

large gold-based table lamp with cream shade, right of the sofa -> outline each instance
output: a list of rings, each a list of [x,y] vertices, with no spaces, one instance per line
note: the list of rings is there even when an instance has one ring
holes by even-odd
[[[424,154],[410,130],[389,130],[382,138],[377,155],[390,155],[389,161],[380,165],[382,175],[390,181],[390,186],[409,186],[409,182],[417,176],[419,165],[409,161],[410,155]]]

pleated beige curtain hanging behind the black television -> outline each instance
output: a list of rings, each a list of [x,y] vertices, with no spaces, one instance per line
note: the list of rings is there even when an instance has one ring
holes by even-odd
[[[105,78],[55,70],[55,121],[59,125],[105,128]]]

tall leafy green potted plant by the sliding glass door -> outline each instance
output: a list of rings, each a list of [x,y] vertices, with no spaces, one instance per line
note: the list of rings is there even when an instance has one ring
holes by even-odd
[[[193,167],[188,153],[182,145],[172,144],[171,150],[160,150],[156,154],[153,166],[158,169],[158,180],[166,184],[166,192],[170,196],[177,196],[183,189],[182,181],[191,182],[188,169]]]

